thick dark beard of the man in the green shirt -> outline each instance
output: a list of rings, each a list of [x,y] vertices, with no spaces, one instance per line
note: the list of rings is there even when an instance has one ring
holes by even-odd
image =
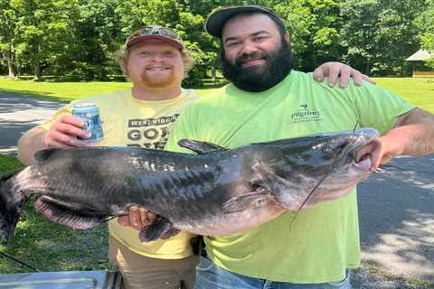
[[[258,57],[265,58],[266,66],[264,68],[241,67],[243,61]],[[221,49],[220,60],[222,61],[223,76],[238,89],[250,92],[271,89],[285,79],[293,68],[291,48],[283,38],[280,49],[269,54],[264,51],[257,51],[249,55],[242,54],[232,64],[224,56],[224,49]]]

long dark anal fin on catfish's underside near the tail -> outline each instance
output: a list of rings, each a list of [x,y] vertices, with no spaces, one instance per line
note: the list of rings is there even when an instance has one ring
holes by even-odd
[[[51,219],[53,222],[79,229],[88,229],[97,227],[99,224],[107,221],[109,216],[106,215],[82,215],[76,210],[71,210],[61,206],[52,200],[40,197],[33,203],[34,209],[38,210],[44,217]]]

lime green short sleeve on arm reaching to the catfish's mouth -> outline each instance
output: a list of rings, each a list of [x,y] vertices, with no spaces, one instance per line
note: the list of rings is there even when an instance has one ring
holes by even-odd
[[[374,127],[381,134],[391,130],[398,117],[416,107],[392,92],[365,81],[363,86],[352,86],[348,92],[354,97],[360,125]]]

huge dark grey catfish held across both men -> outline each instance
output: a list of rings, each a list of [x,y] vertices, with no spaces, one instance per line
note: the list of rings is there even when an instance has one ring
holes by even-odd
[[[145,207],[162,218],[139,233],[156,240],[169,230],[229,235],[348,194],[370,173],[354,150],[373,128],[225,149],[182,140],[197,154],[134,147],[45,149],[38,163],[0,180],[0,238],[14,235],[24,202],[71,228],[93,228]]]

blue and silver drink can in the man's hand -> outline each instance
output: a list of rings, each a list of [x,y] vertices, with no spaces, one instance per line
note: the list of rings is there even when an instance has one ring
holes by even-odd
[[[83,129],[91,134],[89,138],[80,138],[80,140],[86,143],[97,143],[104,138],[99,109],[96,105],[92,103],[74,105],[72,107],[72,117],[84,120]]]

